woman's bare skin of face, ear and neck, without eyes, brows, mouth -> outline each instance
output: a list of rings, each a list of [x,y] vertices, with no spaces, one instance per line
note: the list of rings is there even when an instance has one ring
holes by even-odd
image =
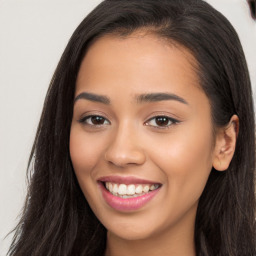
[[[209,100],[188,50],[149,33],[98,39],[82,61],[74,104],[70,155],[80,187],[107,228],[108,256],[196,255],[198,200],[212,166],[226,170],[235,149],[238,118],[213,136]],[[186,101],[138,102],[138,95],[170,93]],[[102,116],[102,124],[86,116]],[[163,115],[177,120],[157,125]],[[83,122],[81,122],[83,119]],[[142,208],[121,212],[104,201],[97,180],[133,176],[161,183]]]

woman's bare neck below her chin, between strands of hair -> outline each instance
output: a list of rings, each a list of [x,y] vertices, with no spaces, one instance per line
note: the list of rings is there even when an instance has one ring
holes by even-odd
[[[108,231],[105,256],[196,256],[194,244],[195,214],[176,223],[161,234],[140,240],[126,240]]]

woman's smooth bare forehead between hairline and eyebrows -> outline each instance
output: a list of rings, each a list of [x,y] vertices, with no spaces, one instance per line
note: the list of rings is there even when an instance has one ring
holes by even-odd
[[[125,91],[126,95],[197,88],[197,62],[186,48],[153,34],[103,36],[88,49],[79,70],[76,94]]]

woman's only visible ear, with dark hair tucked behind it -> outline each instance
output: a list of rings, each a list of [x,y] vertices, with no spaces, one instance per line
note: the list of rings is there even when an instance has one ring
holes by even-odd
[[[213,167],[217,171],[225,171],[233,158],[236,139],[239,131],[239,118],[233,115],[227,126],[219,128],[215,138]]]

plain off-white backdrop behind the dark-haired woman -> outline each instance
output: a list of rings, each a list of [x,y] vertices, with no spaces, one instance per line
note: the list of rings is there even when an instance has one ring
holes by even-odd
[[[12,235],[5,236],[25,200],[27,162],[50,79],[71,34],[100,2],[0,0],[0,256],[6,255]],[[239,34],[255,100],[256,22],[248,4],[208,2]]]

